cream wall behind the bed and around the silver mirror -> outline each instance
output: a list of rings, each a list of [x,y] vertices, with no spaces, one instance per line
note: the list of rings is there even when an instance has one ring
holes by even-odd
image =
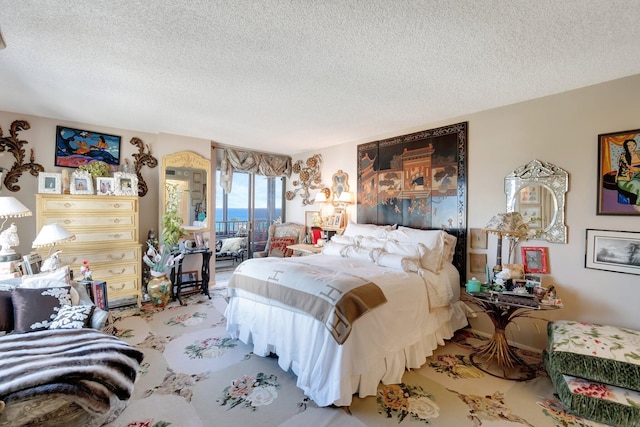
[[[640,276],[584,268],[587,228],[640,231],[640,216],[596,215],[598,134],[639,129],[638,99],[640,75],[372,136],[304,153],[294,160],[322,154],[323,182],[330,186],[331,175],[342,169],[348,172],[349,183],[355,191],[358,144],[468,121],[469,228],[482,228],[493,214],[506,211],[504,177],[516,167],[539,159],[569,172],[566,197],[568,244],[549,244],[538,240],[525,243],[527,246],[549,248],[550,274],[545,280],[556,285],[565,303],[564,309],[542,312],[540,317],[609,323],[640,330],[640,317],[636,315]],[[288,220],[302,222],[302,212],[312,208],[301,207],[300,199],[296,198],[288,202]],[[354,214],[351,213],[352,218],[355,218]],[[493,265],[495,244],[495,236],[490,236],[488,250],[474,252],[486,252],[489,264]],[[511,338],[537,348],[545,345],[545,322],[519,319],[517,324],[518,327],[509,328]],[[485,332],[492,330],[483,315],[473,320],[472,326]]]

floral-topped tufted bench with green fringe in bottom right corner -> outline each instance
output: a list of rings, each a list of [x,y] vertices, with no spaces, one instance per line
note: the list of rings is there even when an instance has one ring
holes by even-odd
[[[640,331],[558,320],[547,333],[544,366],[571,412],[612,426],[640,425]]]

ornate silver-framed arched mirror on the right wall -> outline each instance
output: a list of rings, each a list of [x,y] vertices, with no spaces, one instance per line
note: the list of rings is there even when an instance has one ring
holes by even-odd
[[[567,243],[564,204],[568,187],[567,171],[533,160],[505,177],[507,212],[520,212],[535,231],[534,239]]]

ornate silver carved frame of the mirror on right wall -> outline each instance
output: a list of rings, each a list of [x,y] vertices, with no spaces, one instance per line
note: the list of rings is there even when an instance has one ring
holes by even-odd
[[[520,190],[530,185],[541,185],[551,191],[556,202],[553,221],[536,234],[534,239],[546,240],[549,243],[567,243],[564,206],[565,193],[569,189],[569,174],[558,166],[540,160],[520,166],[504,178],[507,212],[515,210]]]

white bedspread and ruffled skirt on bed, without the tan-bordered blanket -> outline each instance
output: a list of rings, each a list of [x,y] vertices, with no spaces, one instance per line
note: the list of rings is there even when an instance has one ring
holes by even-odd
[[[320,406],[348,406],[354,393],[375,395],[380,381],[399,383],[406,368],[422,366],[433,349],[467,325],[453,265],[436,275],[326,254],[287,260],[313,261],[370,280],[387,298],[386,304],[355,321],[342,345],[321,322],[304,313],[253,295],[229,299],[225,316],[231,336],[253,343],[257,355],[276,353],[280,367],[291,369],[298,387]],[[243,269],[250,271],[251,263],[260,261],[245,261]],[[230,284],[233,280],[232,276]]]

